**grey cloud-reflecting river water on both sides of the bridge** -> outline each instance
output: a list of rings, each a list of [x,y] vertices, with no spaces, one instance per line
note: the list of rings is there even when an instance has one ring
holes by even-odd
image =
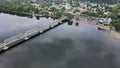
[[[0,14],[0,40],[54,21]],[[0,55],[0,68],[120,68],[120,40],[66,22]]]

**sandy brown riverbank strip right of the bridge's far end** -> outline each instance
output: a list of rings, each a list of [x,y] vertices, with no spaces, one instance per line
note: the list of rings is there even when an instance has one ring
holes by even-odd
[[[110,35],[113,38],[120,40],[120,33],[119,32],[110,30],[109,26],[104,26],[102,24],[96,24],[97,21],[88,21],[87,19],[80,19],[80,20],[76,21],[75,19],[73,19],[73,22],[95,26],[98,28],[98,30],[102,31],[103,33],[106,33],[107,35]]]

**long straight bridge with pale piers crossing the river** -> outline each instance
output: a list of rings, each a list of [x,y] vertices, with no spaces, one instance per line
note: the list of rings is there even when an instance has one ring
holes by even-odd
[[[56,20],[55,22],[51,22],[49,24],[44,24],[44,25],[38,25],[33,29],[30,29],[24,33],[19,33],[16,36],[12,36],[8,39],[3,40],[3,42],[0,43],[0,51],[4,51],[9,49],[10,47],[14,46],[11,44],[14,43],[20,43],[21,41],[26,41],[30,39],[30,37],[33,37],[37,34],[41,34],[46,30],[49,30],[51,28],[54,28],[57,25],[60,25],[63,23],[64,20],[67,20],[67,17],[60,18]]]

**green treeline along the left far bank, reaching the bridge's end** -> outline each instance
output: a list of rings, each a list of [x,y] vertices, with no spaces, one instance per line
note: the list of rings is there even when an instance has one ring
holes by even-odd
[[[21,14],[28,14],[28,15],[36,15],[36,16],[51,16],[54,18],[61,18],[63,16],[67,16],[69,19],[73,18],[73,15],[70,13],[65,13],[63,9],[56,9],[55,7],[52,8],[42,8],[42,7],[35,7],[30,3],[19,3],[19,2],[4,2],[0,3],[0,9],[4,11],[10,11],[15,13]],[[48,10],[49,9],[49,10]]]

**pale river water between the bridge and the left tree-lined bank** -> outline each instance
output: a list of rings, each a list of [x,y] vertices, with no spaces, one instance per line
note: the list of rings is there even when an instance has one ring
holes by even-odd
[[[7,17],[7,20],[6,20]],[[16,15],[10,15],[10,14],[0,14],[0,42],[3,39],[9,38],[11,36],[14,36],[18,33],[23,33],[29,29],[32,29],[33,27],[37,25],[44,25],[47,23],[54,22],[52,18],[45,18],[40,17],[39,20],[36,19],[36,17],[33,18],[27,18],[27,17],[19,17]]]

